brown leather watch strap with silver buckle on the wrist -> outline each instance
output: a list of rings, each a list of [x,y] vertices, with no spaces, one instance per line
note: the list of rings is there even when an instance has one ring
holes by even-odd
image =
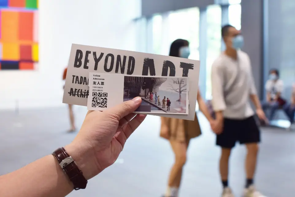
[[[74,184],[74,189],[85,189],[87,185],[87,180],[83,176],[82,171],[79,170],[76,162],[71,156],[69,156],[67,151],[63,147],[58,148],[52,153],[52,155],[56,157],[60,167]]]

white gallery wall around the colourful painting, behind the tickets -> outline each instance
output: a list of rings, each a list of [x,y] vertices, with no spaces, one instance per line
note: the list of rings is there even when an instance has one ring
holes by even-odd
[[[39,0],[39,65],[0,71],[0,109],[61,106],[71,44],[136,50],[140,0]]]

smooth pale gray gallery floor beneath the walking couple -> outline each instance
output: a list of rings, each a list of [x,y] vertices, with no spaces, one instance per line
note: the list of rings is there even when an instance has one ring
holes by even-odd
[[[86,108],[75,106],[77,125],[82,124]],[[0,174],[16,170],[74,139],[67,133],[67,108],[0,112]],[[218,197],[220,150],[204,117],[199,117],[203,135],[192,140],[184,168],[180,196]],[[173,154],[166,140],[159,137],[160,119],[148,116],[130,137],[120,162],[91,179],[85,190],[70,197],[159,197],[166,190]],[[262,128],[256,186],[269,197],[293,197],[295,194],[295,132]],[[34,152],[35,154],[31,154]],[[241,196],[245,148],[237,144],[230,161],[229,183]]]

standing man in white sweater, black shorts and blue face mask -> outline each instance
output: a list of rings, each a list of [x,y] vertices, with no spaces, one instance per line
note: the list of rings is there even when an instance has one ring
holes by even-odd
[[[225,51],[212,65],[212,104],[217,123],[213,131],[216,144],[221,147],[219,170],[223,185],[222,197],[233,197],[228,185],[228,160],[236,141],[245,144],[246,184],[244,197],[263,197],[254,187],[254,174],[258,155],[260,131],[256,124],[249,98],[255,104],[259,119],[267,121],[257,97],[249,56],[239,50],[243,37],[231,25],[223,26],[222,38]]]

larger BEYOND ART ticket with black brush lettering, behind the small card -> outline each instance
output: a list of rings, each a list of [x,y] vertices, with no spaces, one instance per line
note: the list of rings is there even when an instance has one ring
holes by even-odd
[[[64,86],[63,103],[87,106],[88,96],[90,95],[89,73],[189,77],[189,81],[187,81],[190,84],[189,113],[160,113],[157,116],[194,120],[199,71],[200,61],[198,60],[72,44]],[[160,97],[162,96],[160,95]],[[181,97],[183,96],[181,95]],[[162,104],[162,102],[160,103]],[[171,109],[168,111],[172,111],[173,105],[171,101]]]

